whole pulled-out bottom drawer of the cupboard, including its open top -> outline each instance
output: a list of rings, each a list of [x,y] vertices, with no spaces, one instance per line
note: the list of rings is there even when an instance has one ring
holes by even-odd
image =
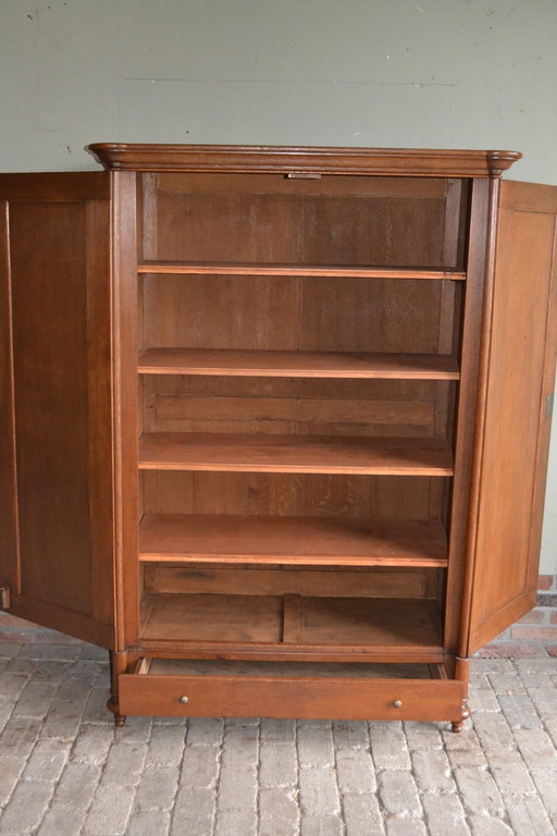
[[[465,697],[437,665],[144,659],[119,684],[148,716],[459,721]]]

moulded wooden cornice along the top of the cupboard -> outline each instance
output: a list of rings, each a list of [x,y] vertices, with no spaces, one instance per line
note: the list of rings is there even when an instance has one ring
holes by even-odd
[[[493,177],[500,176],[522,156],[518,151],[454,149],[124,143],[96,143],[87,149],[106,169],[275,172],[310,177],[319,174]]]

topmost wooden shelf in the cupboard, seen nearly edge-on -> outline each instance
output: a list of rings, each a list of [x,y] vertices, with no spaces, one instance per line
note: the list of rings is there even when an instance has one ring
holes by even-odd
[[[461,270],[436,267],[371,267],[364,265],[289,265],[236,261],[143,261],[138,273],[183,275],[313,275],[343,279],[430,279],[463,281]]]

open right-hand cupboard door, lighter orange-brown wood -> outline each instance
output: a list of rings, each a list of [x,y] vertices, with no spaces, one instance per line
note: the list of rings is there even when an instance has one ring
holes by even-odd
[[[468,653],[535,606],[557,343],[556,217],[556,187],[502,183]]]

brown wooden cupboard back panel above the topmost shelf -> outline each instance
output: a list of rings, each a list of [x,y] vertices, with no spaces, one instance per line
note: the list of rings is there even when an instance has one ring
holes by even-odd
[[[145,175],[144,258],[456,266],[453,181]],[[450,199],[447,194],[450,193]],[[448,251],[451,249],[451,251]]]

